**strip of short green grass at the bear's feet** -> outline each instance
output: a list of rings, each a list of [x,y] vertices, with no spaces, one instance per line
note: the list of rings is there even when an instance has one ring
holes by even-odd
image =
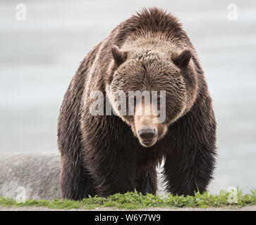
[[[146,207],[243,207],[245,205],[256,205],[256,189],[249,194],[242,194],[242,191],[237,192],[237,203],[228,203],[230,193],[221,191],[219,195],[209,194],[208,192],[200,194],[195,193],[195,196],[183,195],[142,195],[138,192],[128,192],[125,194],[115,194],[108,198],[85,198],[81,201],[73,200],[27,200],[25,203],[16,203],[16,200],[11,198],[1,198],[0,205],[4,207],[49,207],[53,209],[94,209],[95,207],[113,207],[114,209],[135,210]],[[230,202],[230,201],[229,201]]]

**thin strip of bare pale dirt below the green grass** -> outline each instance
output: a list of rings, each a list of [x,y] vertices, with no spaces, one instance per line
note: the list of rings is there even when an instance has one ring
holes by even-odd
[[[105,207],[105,208],[96,208],[92,211],[113,211],[113,209]],[[73,209],[73,210],[56,210],[49,209],[47,207],[1,207],[0,211],[86,211],[85,209]],[[256,205],[245,206],[241,208],[231,208],[231,207],[210,207],[210,208],[145,208],[139,209],[136,211],[256,211]]]

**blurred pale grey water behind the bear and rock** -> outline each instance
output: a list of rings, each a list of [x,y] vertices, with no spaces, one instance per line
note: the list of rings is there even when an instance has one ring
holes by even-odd
[[[0,153],[58,150],[59,108],[80,61],[144,6],[178,16],[200,56],[218,122],[215,176],[243,193],[256,188],[256,1],[1,0]]]

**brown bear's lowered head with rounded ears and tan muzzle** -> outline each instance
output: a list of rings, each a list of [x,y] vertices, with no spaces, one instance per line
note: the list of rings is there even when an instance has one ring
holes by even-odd
[[[114,46],[106,94],[116,115],[145,147],[163,138],[197,96],[197,74],[188,49],[161,53]]]

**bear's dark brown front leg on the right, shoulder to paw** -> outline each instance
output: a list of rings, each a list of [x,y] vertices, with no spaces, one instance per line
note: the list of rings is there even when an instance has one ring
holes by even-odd
[[[166,188],[178,195],[206,191],[215,167],[216,121],[207,92],[190,112],[171,124],[166,135]]]

